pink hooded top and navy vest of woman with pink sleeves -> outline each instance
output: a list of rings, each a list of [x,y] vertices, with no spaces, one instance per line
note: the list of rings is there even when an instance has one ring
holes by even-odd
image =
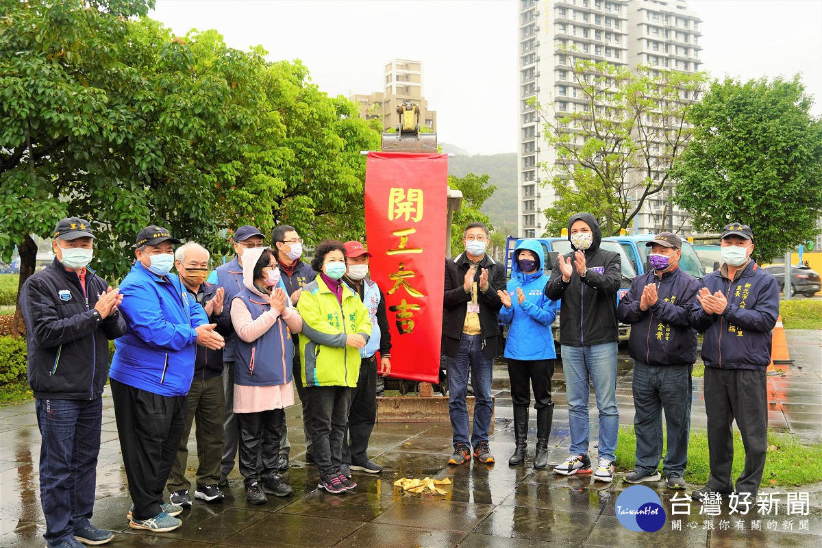
[[[252,320],[257,320],[266,313],[271,314],[268,295],[254,287],[254,266],[264,249],[255,247],[243,253],[243,288],[238,292],[237,297],[233,298],[232,306],[237,306],[237,301],[242,301],[252,315]],[[280,280],[279,287],[285,289],[282,280]],[[277,315],[274,325],[266,333],[249,342],[242,340],[239,334],[235,333],[237,337],[234,353],[235,385],[274,386],[291,382],[294,344],[291,329],[285,324],[284,315],[296,314],[297,311],[291,305],[291,299],[288,299],[285,311]],[[239,331],[240,327],[235,325],[235,331]]]

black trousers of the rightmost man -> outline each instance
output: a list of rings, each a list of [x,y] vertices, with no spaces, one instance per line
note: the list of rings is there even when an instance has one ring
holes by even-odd
[[[760,489],[768,453],[768,389],[766,371],[705,367],[705,413],[708,416],[708,486],[723,493]],[[745,446],[745,467],[734,489],[733,432],[736,419]]]

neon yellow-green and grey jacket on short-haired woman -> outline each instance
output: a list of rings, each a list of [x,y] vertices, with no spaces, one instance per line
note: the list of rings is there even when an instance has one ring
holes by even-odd
[[[300,363],[303,386],[357,386],[360,352],[345,344],[349,334],[371,339],[368,309],[343,283],[343,304],[317,276],[302,288],[297,310],[302,316]]]

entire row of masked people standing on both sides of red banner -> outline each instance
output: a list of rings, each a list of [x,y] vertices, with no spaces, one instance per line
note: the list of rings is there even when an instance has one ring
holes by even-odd
[[[711,476],[695,496],[755,495],[764,468],[765,370],[779,291],[773,276],[750,260],[750,227],[731,223],[723,229],[723,265],[701,281],[678,269],[681,238],[656,235],[648,242],[651,269],[633,280],[618,306],[621,260],[600,247],[597,220],[576,214],[568,232],[572,251],[554,265],[546,263],[538,240],[522,240],[507,281],[505,266],[486,253],[490,234],[483,223],[469,224],[464,252],[446,260],[441,348],[453,430],[449,463],[494,462],[492,362],[501,351],[502,324],[509,326],[504,355],[514,405],[515,452],[508,462],[525,461],[533,389],[533,467],[547,467],[556,359],[552,323],[559,311],[571,443],[569,457],[553,472],[613,481],[621,320],[632,325],[629,348],[635,360],[636,464],[626,481],[661,478],[664,411],[667,486],[686,487],[682,477],[699,331],[704,333]],[[87,266],[94,240],[88,221],[62,219],[53,233],[53,263],[33,274],[21,294],[28,375],[42,435],[39,478],[47,548],[104,544],[113,537],[90,522],[101,397],[109,377],[133,503],[130,527],[172,531],[182,524],[177,516],[192,498],[219,503],[237,456],[249,503],[291,495],[279,472],[289,467],[284,408],[294,403],[294,386],[302,404],[306,460],[316,463],[320,489],[344,493],[357,486],[352,470],[381,472],[367,448],[376,421],[376,379],[390,374],[391,343],[385,298],[367,279],[371,254],[361,242],[320,242],[308,265],[301,260],[296,228],[275,228],[272,246],[266,246],[265,236],[245,225],[233,234],[236,256],[209,274],[209,251],[196,242],[179,245],[165,228],[149,226],[136,237],[131,271],[113,289]],[[112,339],[116,350],[109,370]],[[592,383],[596,467],[589,458]],[[734,419],[746,448],[736,485]],[[192,497],[185,471],[195,420],[198,467]],[[166,489],[170,502],[164,501]]]

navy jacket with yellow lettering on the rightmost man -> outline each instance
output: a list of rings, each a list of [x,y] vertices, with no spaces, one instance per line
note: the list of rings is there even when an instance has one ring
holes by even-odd
[[[771,358],[771,334],[779,315],[779,285],[772,274],[753,260],[736,281],[722,269],[702,279],[711,293],[721,291],[727,307],[721,315],[708,314],[697,303],[691,325],[704,331],[702,360],[709,367],[766,370]]]

